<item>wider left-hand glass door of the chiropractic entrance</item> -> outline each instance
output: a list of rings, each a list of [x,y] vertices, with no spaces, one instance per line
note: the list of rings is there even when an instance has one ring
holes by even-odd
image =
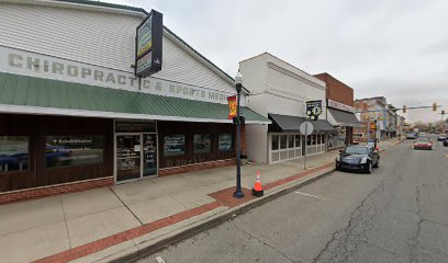
[[[141,135],[116,136],[116,182],[142,176]]]

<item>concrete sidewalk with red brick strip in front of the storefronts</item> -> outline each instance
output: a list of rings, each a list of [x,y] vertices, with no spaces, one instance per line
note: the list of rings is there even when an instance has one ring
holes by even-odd
[[[333,163],[336,153],[309,157],[307,171]],[[235,167],[225,167],[2,205],[1,261],[49,256],[43,262],[91,262],[130,248],[137,250],[148,240],[249,202],[257,171],[269,195],[299,179],[291,176],[304,171],[303,158],[244,165],[242,184],[247,195],[237,202],[232,197]],[[81,258],[86,255],[90,258]]]

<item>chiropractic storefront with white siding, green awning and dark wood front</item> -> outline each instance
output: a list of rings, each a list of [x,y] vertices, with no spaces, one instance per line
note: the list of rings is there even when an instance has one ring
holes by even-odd
[[[0,203],[235,162],[231,77],[166,27],[163,69],[135,77],[145,10],[16,1],[0,11]],[[246,126],[269,123],[242,112]]]

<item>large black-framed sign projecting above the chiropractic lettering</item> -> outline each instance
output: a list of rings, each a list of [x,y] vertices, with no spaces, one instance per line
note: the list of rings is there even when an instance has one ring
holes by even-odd
[[[135,36],[135,77],[146,78],[161,70],[164,15],[152,10],[137,26]]]

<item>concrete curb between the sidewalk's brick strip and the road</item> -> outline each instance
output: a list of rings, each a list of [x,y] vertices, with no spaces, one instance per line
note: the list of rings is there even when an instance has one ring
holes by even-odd
[[[334,172],[335,169],[334,168],[329,168],[327,170],[324,170],[322,172],[318,172],[315,175],[312,175],[311,178],[307,179],[302,179],[302,181],[293,183],[293,184],[285,184],[284,188],[280,188],[277,190],[272,193],[266,194],[262,198],[255,198],[251,199],[245,204],[242,204],[239,206],[229,208],[225,211],[222,211],[217,215],[211,216],[210,219],[204,219],[206,221],[198,221],[198,222],[193,222],[192,227],[184,229],[184,230],[173,230],[171,233],[167,233],[165,235],[165,237],[160,240],[157,240],[158,238],[156,238],[155,240],[150,240],[150,241],[146,241],[143,243],[138,243],[136,244],[137,249],[128,249],[128,250],[124,250],[121,251],[120,253],[116,253],[114,255],[109,255],[105,256],[103,259],[101,259],[100,261],[105,261],[105,262],[113,262],[113,263],[122,263],[122,262],[135,262],[139,259],[142,259],[143,256],[153,254],[157,251],[160,251],[165,248],[168,248],[171,244],[175,244],[177,242],[180,242],[187,238],[190,238],[194,235],[198,235],[206,229],[210,229],[216,225],[220,225],[231,218],[234,218],[238,215],[243,215],[244,213],[260,206],[267,202],[270,202],[272,199],[276,199],[282,195],[285,195],[290,192],[293,192],[300,187],[303,187],[307,184],[311,184],[328,174],[331,174],[332,172]],[[190,225],[191,226],[191,225]],[[109,260],[108,260],[109,258]],[[112,258],[112,259],[110,259]]]

